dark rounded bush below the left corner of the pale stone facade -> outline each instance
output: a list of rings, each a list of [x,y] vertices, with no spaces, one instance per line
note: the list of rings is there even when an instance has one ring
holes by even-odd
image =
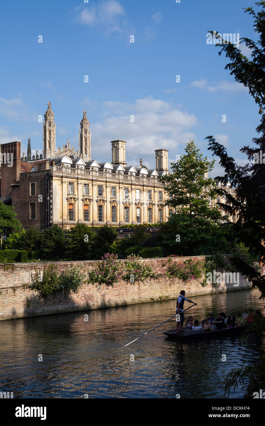
[[[53,225],[46,229],[40,245],[40,255],[45,260],[60,260],[66,256],[67,241],[62,228]]]

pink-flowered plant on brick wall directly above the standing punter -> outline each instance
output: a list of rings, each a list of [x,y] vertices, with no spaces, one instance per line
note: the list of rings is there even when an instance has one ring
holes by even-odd
[[[179,278],[186,283],[202,277],[203,262],[187,259],[184,262],[179,263],[172,262],[171,259],[169,259],[166,271],[167,276]]]

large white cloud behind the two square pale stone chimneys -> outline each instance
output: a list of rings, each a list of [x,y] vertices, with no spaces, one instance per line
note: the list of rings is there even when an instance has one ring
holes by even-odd
[[[173,104],[151,96],[134,104],[108,101],[102,104],[106,118],[93,124],[92,157],[99,161],[111,158],[110,141],[122,139],[126,144],[126,161],[138,165],[140,158],[147,167],[155,167],[154,150],[170,150],[170,158],[183,150],[194,138],[188,129],[197,124],[195,115],[182,112]],[[134,115],[134,123],[130,116]]]

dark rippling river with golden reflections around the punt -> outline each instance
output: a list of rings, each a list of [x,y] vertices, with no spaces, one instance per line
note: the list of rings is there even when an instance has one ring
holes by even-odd
[[[194,320],[210,311],[228,316],[244,307],[264,314],[257,289],[191,299],[198,305],[186,317]],[[0,390],[13,392],[14,398],[224,397],[220,383],[225,374],[254,364],[264,339],[234,336],[176,343],[162,334],[176,328],[171,320],[119,348],[173,316],[175,306],[176,300],[167,300],[1,321]],[[243,394],[237,389],[230,398]]]

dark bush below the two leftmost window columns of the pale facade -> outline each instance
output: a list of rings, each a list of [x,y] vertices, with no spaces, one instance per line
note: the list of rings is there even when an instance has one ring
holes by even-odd
[[[78,224],[71,228],[69,233],[69,255],[71,259],[85,260],[91,259],[91,246],[96,233],[91,227]]]

